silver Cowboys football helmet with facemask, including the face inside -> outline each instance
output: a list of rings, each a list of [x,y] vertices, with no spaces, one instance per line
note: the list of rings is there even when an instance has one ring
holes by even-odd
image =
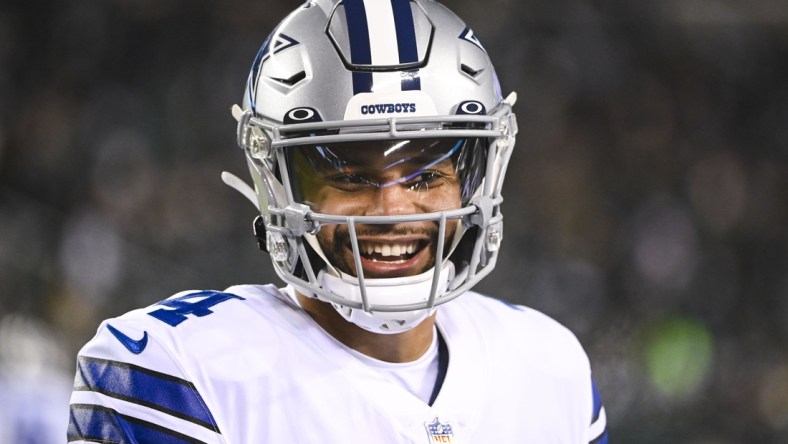
[[[314,0],[285,18],[233,107],[277,274],[376,333],[492,271],[516,95],[432,0]],[[258,230],[258,236],[262,230]]]

